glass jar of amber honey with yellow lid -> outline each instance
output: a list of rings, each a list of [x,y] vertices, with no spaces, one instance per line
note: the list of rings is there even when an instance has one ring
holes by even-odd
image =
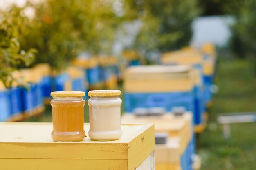
[[[54,141],[81,141],[85,138],[83,129],[84,92],[52,92],[52,139]]]

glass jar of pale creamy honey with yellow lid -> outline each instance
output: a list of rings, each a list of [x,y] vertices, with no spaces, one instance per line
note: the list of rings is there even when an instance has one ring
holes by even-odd
[[[119,90],[93,90],[88,92],[90,99],[89,137],[92,140],[108,141],[120,139],[121,103]]]

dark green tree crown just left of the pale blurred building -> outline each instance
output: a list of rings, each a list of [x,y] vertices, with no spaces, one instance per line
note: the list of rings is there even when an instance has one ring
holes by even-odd
[[[163,52],[189,44],[192,21],[200,13],[197,0],[130,0],[130,5],[143,21],[137,37],[143,48]]]

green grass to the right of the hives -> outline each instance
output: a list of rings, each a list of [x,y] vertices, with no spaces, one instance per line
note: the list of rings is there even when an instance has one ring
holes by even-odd
[[[231,139],[225,140],[216,121],[220,113],[256,111],[256,78],[252,72],[249,61],[220,60],[216,77],[219,92],[209,110],[207,129],[200,135],[202,170],[256,169],[256,124],[232,124]],[[85,122],[89,121],[88,110],[85,104]],[[43,116],[26,121],[52,122],[51,107],[46,107]]]

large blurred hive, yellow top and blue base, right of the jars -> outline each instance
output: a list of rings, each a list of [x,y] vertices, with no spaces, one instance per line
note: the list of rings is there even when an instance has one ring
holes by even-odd
[[[189,66],[137,66],[126,70],[124,109],[184,107],[194,112],[194,80]]]

